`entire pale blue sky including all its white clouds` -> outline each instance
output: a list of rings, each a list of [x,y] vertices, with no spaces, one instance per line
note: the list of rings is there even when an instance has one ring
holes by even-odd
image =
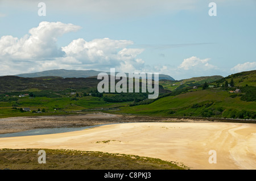
[[[0,75],[51,69],[168,74],[256,69],[256,1],[0,1]],[[209,16],[215,2],[217,16]]]

